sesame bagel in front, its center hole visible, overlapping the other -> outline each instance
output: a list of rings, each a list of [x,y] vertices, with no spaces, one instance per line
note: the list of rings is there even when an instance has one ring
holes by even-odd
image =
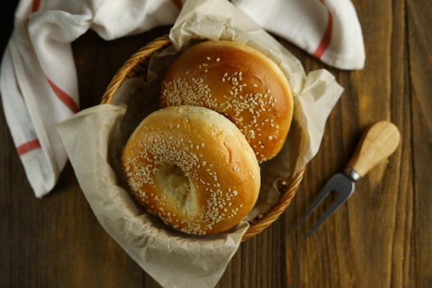
[[[179,231],[235,226],[253,208],[259,165],[244,135],[208,108],[176,106],[146,117],[121,158],[132,194]]]

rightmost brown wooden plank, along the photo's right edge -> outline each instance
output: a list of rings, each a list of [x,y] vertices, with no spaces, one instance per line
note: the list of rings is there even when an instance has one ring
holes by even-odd
[[[409,73],[412,107],[413,238],[411,281],[415,287],[432,283],[432,33],[431,1],[407,1]]]

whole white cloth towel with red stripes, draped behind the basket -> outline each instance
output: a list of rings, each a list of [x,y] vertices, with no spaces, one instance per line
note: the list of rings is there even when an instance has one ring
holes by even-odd
[[[173,24],[187,0],[21,0],[0,70],[6,121],[37,198],[67,162],[54,124],[79,111],[70,44],[88,30],[103,39]],[[204,1],[204,0],[203,0]],[[228,0],[220,0],[228,1]],[[324,63],[361,69],[364,46],[350,0],[232,0],[259,26]]]

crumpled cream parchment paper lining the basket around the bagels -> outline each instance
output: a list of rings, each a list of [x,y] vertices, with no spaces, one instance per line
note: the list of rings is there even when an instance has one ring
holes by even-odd
[[[164,70],[179,50],[202,39],[232,39],[264,52],[282,68],[295,95],[286,144],[277,157],[262,164],[262,189],[248,218],[277,201],[276,180],[289,181],[315,156],[326,119],[343,90],[327,70],[306,75],[300,61],[229,1],[188,0],[170,31],[173,46],[150,61],[147,82],[128,79],[112,104],[88,108],[57,124],[77,180],[101,226],[167,288],[215,287],[249,225],[245,219],[215,236],[174,231],[132,199],[119,169],[119,153],[128,135],[159,108]]]

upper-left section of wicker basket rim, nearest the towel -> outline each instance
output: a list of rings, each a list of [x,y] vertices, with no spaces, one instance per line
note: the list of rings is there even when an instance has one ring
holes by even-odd
[[[149,44],[135,52],[135,54],[133,54],[124,63],[124,65],[121,66],[121,68],[115,74],[115,77],[111,79],[110,84],[108,84],[108,87],[106,88],[105,93],[102,96],[101,104],[110,104],[112,102],[112,98],[114,97],[115,93],[117,92],[123,81],[128,77],[130,71],[135,66],[137,66],[137,64],[141,63],[147,58],[150,58],[150,56],[153,55],[154,52],[168,46],[169,44],[171,44],[171,42],[168,35],[164,35],[155,39],[154,41],[151,41]]]

